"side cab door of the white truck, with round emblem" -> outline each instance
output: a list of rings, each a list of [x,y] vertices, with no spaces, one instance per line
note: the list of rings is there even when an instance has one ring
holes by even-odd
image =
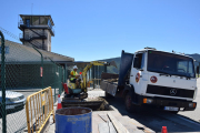
[[[140,94],[142,92],[143,80],[142,76],[146,76],[144,70],[144,55],[146,53],[136,53],[133,58],[133,63],[130,73],[130,84],[133,84],[136,93]]]

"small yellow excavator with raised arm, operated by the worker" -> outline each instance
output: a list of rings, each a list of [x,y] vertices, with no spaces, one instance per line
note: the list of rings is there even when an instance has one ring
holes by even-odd
[[[72,83],[69,82],[68,86],[66,85],[64,91],[66,91],[66,98],[78,98],[79,100],[88,98],[87,93],[87,84],[92,83],[92,81],[87,81],[87,72],[93,66],[93,65],[116,65],[114,61],[109,62],[103,62],[103,61],[92,61],[90,64],[88,64],[83,71],[79,75],[80,83]]]

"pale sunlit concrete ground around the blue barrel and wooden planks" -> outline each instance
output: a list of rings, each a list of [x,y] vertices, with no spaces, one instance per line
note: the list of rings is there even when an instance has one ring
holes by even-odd
[[[90,99],[96,99],[97,96],[104,96],[104,92],[100,89],[94,89],[92,91],[88,91]],[[63,95],[61,95],[61,99]],[[112,111],[92,111],[92,133],[99,133],[99,124],[104,123],[104,121],[99,115],[107,115],[109,112],[123,125],[130,133],[144,133],[143,130],[139,130],[138,126],[143,126],[141,123],[128,117],[127,115],[121,115],[118,109],[111,106]],[[57,106],[54,106],[56,111]],[[143,126],[148,133],[154,133],[154,131]],[[56,123],[53,123],[53,115],[51,115],[49,120],[49,124],[44,131],[44,133],[54,133],[56,132]]]

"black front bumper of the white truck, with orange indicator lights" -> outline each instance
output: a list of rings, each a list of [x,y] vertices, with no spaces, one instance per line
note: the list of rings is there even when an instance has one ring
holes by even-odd
[[[164,106],[174,106],[179,109],[182,108],[183,111],[193,111],[197,106],[197,102],[164,98],[141,96],[139,101],[142,105],[156,105],[161,109],[163,109]]]

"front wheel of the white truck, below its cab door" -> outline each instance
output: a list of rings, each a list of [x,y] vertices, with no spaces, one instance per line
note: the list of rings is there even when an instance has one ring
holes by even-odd
[[[130,94],[130,93],[127,93],[124,103],[126,103],[126,110],[127,110],[129,113],[136,112],[136,109],[134,109],[136,105],[132,104],[132,98],[131,98],[131,94]]]

